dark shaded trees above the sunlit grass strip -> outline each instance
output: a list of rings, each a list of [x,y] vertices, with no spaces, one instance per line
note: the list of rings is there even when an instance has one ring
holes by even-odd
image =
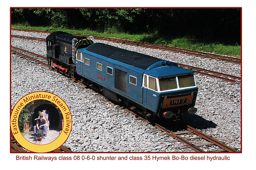
[[[12,8],[12,24],[157,34],[240,45],[240,8]]]

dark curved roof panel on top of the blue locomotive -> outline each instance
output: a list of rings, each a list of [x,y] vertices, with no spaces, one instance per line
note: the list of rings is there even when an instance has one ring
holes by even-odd
[[[158,59],[149,55],[120,49],[118,47],[103,43],[94,43],[87,47],[86,51],[90,51],[92,53],[96,53],[98,55],[102,55],[104,57],[108,57],[110,59],[141,68],[143,70],[146,70],[150,65],[158,61],[163,61],[162,59]]]

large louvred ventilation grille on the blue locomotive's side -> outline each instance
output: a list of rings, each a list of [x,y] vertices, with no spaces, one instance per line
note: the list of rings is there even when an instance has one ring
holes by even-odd
[[[115,88],[127,93],[127,72],[115,68]]]

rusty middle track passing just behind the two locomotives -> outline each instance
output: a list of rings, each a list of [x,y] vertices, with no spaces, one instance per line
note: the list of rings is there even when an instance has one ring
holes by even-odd
[[[26,37],[26,36],[20,36],[20,35],[11,35],[11,36],[16,37],[16,38],[22,38],[22,39],[33,39],[33,40],[38,40],[38,41],[46,41],[45,39],[42,39],[42,38]],[[12,48],[14,48],[14,47],[12,47]],[[20,50],[22,50],[22,49],[20,49]],[[26,51],[26,52],[28,52],[28,51]],[[33,55],[35,55],[35,54],[33,54]],[[198,74],[202,74],[202,75],[206,75],[206,76],[210,76],[210,77],[214,77],[214,78],[219,78],[221,80],[225,80],[225,81],[232,82],[232,83],[236,83],[236,82],[240,83],[241,82],[241,78],[238,76],[232,76],[229,74],[220,73],[220,72],[216,72],[216,71],[212,71],[212,70],[206,70],[203,68],[198,68],[198,67],[189,66],[189,65],[185,65],[185,64],[179,64],[179,63],[177,63],[177,64],[184,68],[193,70],[194,72],[196,72]]]

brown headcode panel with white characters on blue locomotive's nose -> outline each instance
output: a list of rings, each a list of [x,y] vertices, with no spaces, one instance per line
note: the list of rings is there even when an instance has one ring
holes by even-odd
[[[183,97],[179,97],[179,98],[164,99],[162,109],[191,104],[193,97],[194,97],[194,95],[183,96]]]

